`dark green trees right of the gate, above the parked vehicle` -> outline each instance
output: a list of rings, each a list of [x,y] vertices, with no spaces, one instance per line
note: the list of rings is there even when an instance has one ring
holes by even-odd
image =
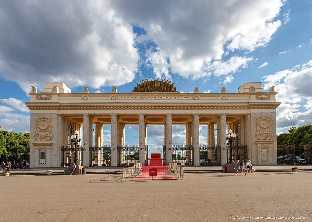
[[[295,154],[303,155],[305,143],[312,144],[312,124],[291,127],[288,132],[277,136],[277,145],[295,145]]]

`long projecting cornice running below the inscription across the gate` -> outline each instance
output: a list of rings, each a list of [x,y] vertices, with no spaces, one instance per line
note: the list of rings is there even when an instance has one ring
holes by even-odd
[[[60,103],[25,103],[31,110],[38,109],[58,109],[58,110],[75,110],[75,109],[263,109],[274,108],[276,109],[280,102],[266,102],[266,103],[158,103],[158,104],[60,104]]]

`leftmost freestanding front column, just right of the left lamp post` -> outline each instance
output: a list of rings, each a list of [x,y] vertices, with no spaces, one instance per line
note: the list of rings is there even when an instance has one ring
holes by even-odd
[[[90,141],[90,134],[92,135],[92,130],[90,132],[90,124],[92,125],[92,120],[90,121],[90,116],[88,114],[83,115],[83,159],[82,164],[86,167],[89,166],[89,146],[92,146],[92,140]],[[90,123],[91,122],[91,123]]]

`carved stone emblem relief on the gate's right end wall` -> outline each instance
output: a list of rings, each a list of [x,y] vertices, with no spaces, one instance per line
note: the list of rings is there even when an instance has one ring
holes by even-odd
[[[257,139],[272,139],[272,119],[271,117],[257,117],[256,120]]]

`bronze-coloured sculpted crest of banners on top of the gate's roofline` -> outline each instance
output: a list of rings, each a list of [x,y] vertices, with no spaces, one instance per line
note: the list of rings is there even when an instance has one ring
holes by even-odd
[[[158,92],[158,93],[178,93],[177,89],[173,87],[173,84],[170,84],[171,81],[168,82],[168,80],[153,80],[149,81],[148,79],[140,81],[137,84],[137,87],[134,87],[134,90],[132,93],[152,93],[152,92]]]

